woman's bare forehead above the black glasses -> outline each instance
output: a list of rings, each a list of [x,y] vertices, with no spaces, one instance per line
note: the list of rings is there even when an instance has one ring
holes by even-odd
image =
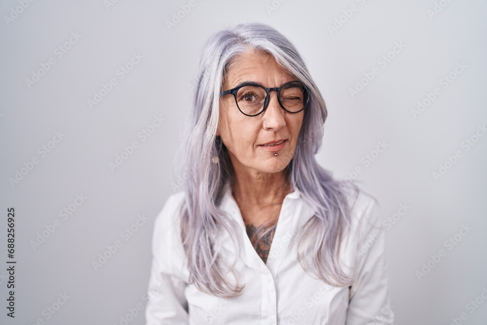
[[[265,87],[276,87],[295,79],[271,54],[252,51],[233,58],[226,69],[224,88],[233,88],[248,81],[260,83]]]

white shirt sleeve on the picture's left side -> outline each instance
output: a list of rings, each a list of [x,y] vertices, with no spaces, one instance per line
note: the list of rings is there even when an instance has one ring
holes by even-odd
[[[177,265],[182,263],[182,245],[174,244],[179,235],[175,217],[182,196],[171,195],[154,222],[152,236],[152,265],[145,310],[146,325],[187,325],[186,282],[180,278]]]

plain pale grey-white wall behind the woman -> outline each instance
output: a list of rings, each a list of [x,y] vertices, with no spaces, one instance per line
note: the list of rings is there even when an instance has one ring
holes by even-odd
[[[487,136],[475,137],[487,123],[487,3],[442,0],[433,16],[433,0],[195,0],[169,29],[166,21],[188,2],[168,2],[52,0],[25,9],[1,2],[0,323],[120,324],[128,308],[144,303],[153,221],[179,191],[173,160],[202,46],[226,26],[263,22],[295,44],[323,92],[329,118],[320,164],[337,178],[356,178],[379,200],[384,220],[400,204],[411,207],[385,232],[395,324],[450,324],[463,312],[462,324],[483,324],[487,302],[479,298],[473,310],[467,304],[487,287]],[[350,16],[352,5],[357,10],[347,18],[343,10]],[[330,32],[336,19],[344,22]],[[59,57],[56,48],[72,32],[81,37]],[[378,60],[395,42],[405,47],[383,67]],[[116,71],[133,53],[143,58],[120,79]],[[56,64],[28,85],[51,57]],[[440,79],[457,62],[467,67],[444,88]],[[374,67],[379,74],[352,97],[350,89]],[[88,99],[111,78],[117,84],[90,108]],[[441,93],[413,116],[435,87]],[[165,120],[142,142],[137,134],[154,115]],[[62,140],[50,143],[59,131]],[[478,141],[467,151],[470,137]],[[112,171],[109,163],[132,141],[139,147]],[[378,141],[388,147],[366,166],[362,159],[375,155]],[[53,144],[45,156],[38,152]],[[456,151],[461,157],[435,179],[432,172]],[[11,185],[34,157],[38,163]],[[362,172],[353,175],[356,167]],[[76,194],[86,200],[63,220],[58,213]],[[8,207],[16,209],[15,320],[5,308]],[[123,237],[138,214],[149,220]],[[56,219],[59,227],[34,249]],[[462,225],[472,229],[447,247]],[[92,262],[116,240],[122,246],[95,270]],[[446,255],[431,262],[440,249]],[[418,278],[423,263],[433,268]],[[63,293],[68,301],[46,313]],[[144,322],[139,312],[129,324]]]

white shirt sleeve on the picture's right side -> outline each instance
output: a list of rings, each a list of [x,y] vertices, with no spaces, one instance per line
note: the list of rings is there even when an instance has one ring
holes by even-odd
[[[358,222],[359,235],[354,252],[358,276],[350,287],[347,325],[393,324],[384,256],[385,234],[378,215],[378,205],[370,198]]]

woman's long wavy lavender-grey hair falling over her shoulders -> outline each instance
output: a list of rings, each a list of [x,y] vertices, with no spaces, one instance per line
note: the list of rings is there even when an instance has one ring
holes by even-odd
[[[181,240],[187,256],[189,283],[218,297],[239,296],[244,285],[233,270],[238,256],[234,221],[219,208],[223,188],[233,177],[225,145],[216,137],[220,91],[233,60],[248,51],[272,55],[289,74],[303,82],[310,92],[298,143],[286,167],[292,188],[316,211],[300,228],[297,257],[303,269],[327,284],[348,286],[353,278],[340,260],[340,243],[350,228],[350,202],[347,191],[356,187],[334,180],[320,167],[315,154],[321,147],[326,105],[318,87],[291,42],[275,29],[260,23],[240,24],[214,34],[206,43],[196,79],[192,121],[184,156],[186,202],[181,207]],[[212,161],[218,156],[219,163]],[[213,158],[214,159],[214,158]],[[218,233],[227,231],[237,255],[232,265],[220,256]],[[227,278],[231,273],[234,277]]]

